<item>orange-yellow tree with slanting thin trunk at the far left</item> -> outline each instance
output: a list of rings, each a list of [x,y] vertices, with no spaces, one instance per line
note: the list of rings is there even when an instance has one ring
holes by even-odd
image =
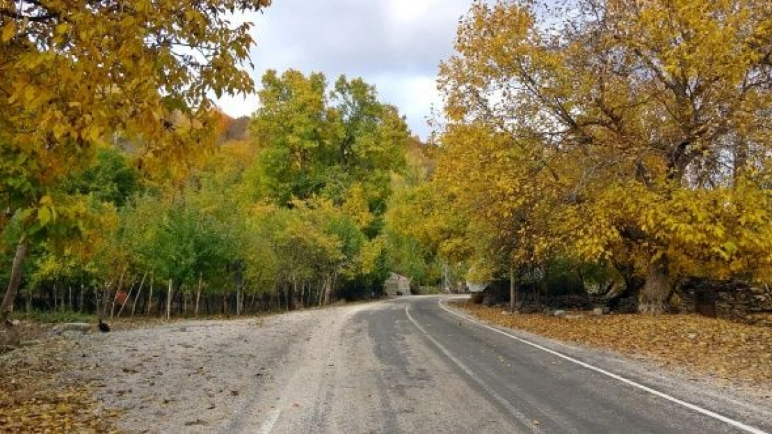
[[[88,167],[97,145],[116,136],[141,139],[134,142],[141,154],[178,159],[208,140],[210,95],[252,90],[240,69],[251,25],[232,25],[229,17],[267,5],[0,2],[0,200],[22,229],[3,315],[30,242],[45,239],[56,220],[80,218],[65,212],[72,200],[57,183]],[[189,127],[177,128],[175,112]]]

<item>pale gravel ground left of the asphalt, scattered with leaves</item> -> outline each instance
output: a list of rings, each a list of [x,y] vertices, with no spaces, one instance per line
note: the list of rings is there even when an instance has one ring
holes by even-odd
[[[125,432],[239,432],[246,415],[271,411],[266,396],[287,381],[286,365],[328,352],[359,308],[76,336],[66,375],[96,386]]]

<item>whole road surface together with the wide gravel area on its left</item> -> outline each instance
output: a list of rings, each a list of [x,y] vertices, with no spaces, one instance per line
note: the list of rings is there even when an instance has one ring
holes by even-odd
[[[769,397],[479,324],[452,299],[76,335],[56,357],[124,432],[772,432]]]

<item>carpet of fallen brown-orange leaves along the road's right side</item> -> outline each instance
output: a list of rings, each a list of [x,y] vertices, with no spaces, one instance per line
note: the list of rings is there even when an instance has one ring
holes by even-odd
[[[700,375],[772,386],[772,328],[699,315],[604,315],[555,318],[508,315],[501,308],[462,303],[478,318],[538,335],[634,358],[679,366]]]

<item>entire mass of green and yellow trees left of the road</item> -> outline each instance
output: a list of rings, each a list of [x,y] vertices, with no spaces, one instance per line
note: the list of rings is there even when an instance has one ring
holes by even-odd
[[[238,63],[252,41],[249,26],[223,21],[241,2],[209,3],[181,12],[205,29],[178,29],[143,2],[123,19],[106,7],[96,28],[56,2],[2,9],[39,16],[2,27],[2,315],[242,315],[372,298],[413,254],[384,215],[394,190],[427,171],[428,148],[398,109],[362,79],[269,71],[250,96],[260,109],[229,118],[209,93],[251,95]],[[141,36],[145,24],[157,34]],[[113,31],[162,66],[150,89],[135,89],[147,77],[126,46],[90,45]],[[219,48],[204,65],[172,56],[186,44]]]

